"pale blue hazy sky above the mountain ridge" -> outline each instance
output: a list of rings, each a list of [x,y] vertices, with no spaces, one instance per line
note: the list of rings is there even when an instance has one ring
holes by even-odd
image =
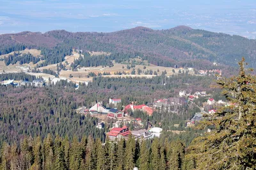
[[[256,36],[256,0],[0,0],[0,33],[175,26]]]

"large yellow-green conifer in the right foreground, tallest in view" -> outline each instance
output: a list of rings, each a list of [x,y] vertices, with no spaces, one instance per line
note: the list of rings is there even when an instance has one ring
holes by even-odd
[[[214,129],[188,148],[187,157],[195,155],[197,169],[256,168],[256,81],[246,73],[244,58],[239,65],[239,75],[218,81],[228,102],[236,105],[203,121],[200,128],[214,125]]]

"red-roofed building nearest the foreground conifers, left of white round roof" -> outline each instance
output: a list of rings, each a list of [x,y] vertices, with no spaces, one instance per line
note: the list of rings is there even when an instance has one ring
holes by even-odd
[[[131,134],[129,128],[122,127],[122,128],[112,128],[110,132],[107,133],[109,140],[115,141],[115,139],[120,139],[122,137],[127,137],[129,134]]]

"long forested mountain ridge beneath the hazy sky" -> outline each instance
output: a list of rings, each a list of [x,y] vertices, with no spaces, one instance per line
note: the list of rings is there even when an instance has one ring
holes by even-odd
[[[118,52],[120,56],[140,54],[154,65],[169,62],[171,64],[168,66],[178,64],[204,67],[216,62],[237,66],[237,61],[244,56],[249,66],[256,66],[256,40],[186,26],[163,30],[134,27],[113,33],[55,30],[44,34],[22,32],[0,35],[1,54],[24,48],[51,49],[55,46],[83,51]]]

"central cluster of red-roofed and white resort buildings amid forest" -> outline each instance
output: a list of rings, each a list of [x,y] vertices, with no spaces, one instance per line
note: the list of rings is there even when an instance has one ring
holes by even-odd
[[[121,102],[122,101],[120,98],[109,98],[109,106],[115,107]],[[118,110],[116,108],[106,107],[102,102],[98,102],[90,109],[86,109],[84,107],[83,110],[85,113],[89,113],[91,115],[105,115],[104,118],[110,118],[112,121],[115,120],[115,123],[113,123],[113,128],[107,133],[111,141],[121,138],[128,139],[129,135],[132,135],[136,139],[148,139],[154,136],[159,137],[162,131],[161,128],[151,128],[150,130],[143,129],[143,122],[141,121],[141,118],[131,118],[129,116],[129,111],[143,111],[149,116],[152,116],[154,109],[144,104],[134,105],[132,103],[124,106],[123,110]],[[129,128],[126,126],[120,127],[120,125],[131,125],[131,123],[134,126],[134,130],[129,130]],[[102,128],[103,126],[104,123],[102,125],[102,122],[96,125],[97,128]]]

